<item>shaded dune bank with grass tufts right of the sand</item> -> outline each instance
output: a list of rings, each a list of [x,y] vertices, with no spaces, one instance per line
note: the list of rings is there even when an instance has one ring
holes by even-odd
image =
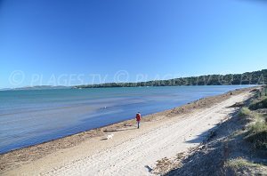
[[[236,113],[218,124],[198,148],[172,164],[164,175],[267,175],[267,89],[230,108]],[[168,167],[166,167],[168,168]]]

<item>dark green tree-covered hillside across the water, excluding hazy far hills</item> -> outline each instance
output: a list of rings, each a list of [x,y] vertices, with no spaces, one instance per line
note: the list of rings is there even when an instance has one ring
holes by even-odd
[[[154,80],[139,83],[86,84],[73,88],[101,87],[139,87],[139,86],[175,86],[175,85],[231,85],[231,84],[267,84],[267,69],[243,74],[190,76],[168,80]]]

